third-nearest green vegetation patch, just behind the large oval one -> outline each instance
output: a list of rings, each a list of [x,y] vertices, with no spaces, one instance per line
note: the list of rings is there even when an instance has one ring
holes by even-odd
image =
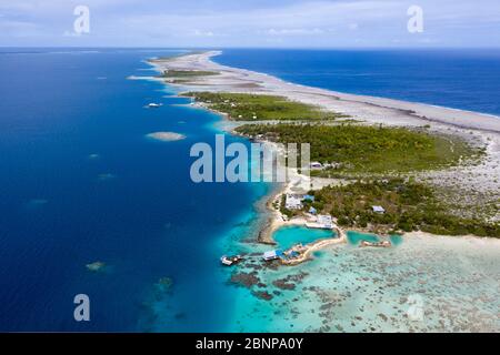
[[[188,92],[186,97],[206,103],[210,109],[227,113],[231,120],[334,120],[346,115],[287,100],[276,95],[247,93]]]

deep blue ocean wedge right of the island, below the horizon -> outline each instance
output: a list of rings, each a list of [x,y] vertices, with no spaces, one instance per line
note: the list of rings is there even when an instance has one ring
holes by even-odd
[[[224,50],[214,60],[303,85],[500,114],[500,50]]]

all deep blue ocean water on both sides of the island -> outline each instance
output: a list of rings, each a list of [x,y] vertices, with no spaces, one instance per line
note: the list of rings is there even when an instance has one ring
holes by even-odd
[[[0,51],[0,331],[227,331],[234,287],[219,257],[248,236],[269,186],[191,182],[189,149],[213,145],[219,116],[177,105],[188,101],[161,83],[127,79],[174,53]],[[499,52],[227,50],[217,61],[500,113]],[[163,106],[143,108],[152,101]],[[144,136],[157,131],[187,139]],[[86,267],[98,261],[101,272]],[[91,322],[73,320],[80,293]]]

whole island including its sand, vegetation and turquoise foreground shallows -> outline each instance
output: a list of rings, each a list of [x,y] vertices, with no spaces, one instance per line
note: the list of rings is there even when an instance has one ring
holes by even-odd
[[[299,85],[219,54],[154,59],[151,80],[220,114],[219,130],[311,146],[310,178],[289,169],[221,248],[239,260],[221,263],[228,284],[248,290],[231,324],[260,331],[273,310],[277,332],[498,329],[500,118]]]

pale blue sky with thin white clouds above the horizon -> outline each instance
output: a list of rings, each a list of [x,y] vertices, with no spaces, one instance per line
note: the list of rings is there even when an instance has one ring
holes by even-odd
[[[0,45],[500,48],[500,0],[0,0]]]

